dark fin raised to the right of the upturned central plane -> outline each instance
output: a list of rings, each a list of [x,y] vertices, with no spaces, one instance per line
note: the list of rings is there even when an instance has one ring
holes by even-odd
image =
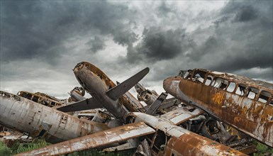
[[[106,94],[113,100],[117,100],[123,94],[125,94],[128,90],[130,90],[132,87],[135,86],[135,84],[138,84],[138,82],[145,77],[145,75],[149,72],[149,68],[146,67],[145,69],[141,70],[137,74],[133,75],[133,77],[130,77],[129,79],[126,79],[121,84],[118,84],[116,87],[113,87],[112,89],[109,89]]]

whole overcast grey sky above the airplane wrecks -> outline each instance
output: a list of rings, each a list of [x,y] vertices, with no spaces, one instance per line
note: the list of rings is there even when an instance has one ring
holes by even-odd
[[[180,69],[273,81],[272,1],[0,1],[1,90],[57,97],[87,61],[113,82],[145,67],[163,91]]]

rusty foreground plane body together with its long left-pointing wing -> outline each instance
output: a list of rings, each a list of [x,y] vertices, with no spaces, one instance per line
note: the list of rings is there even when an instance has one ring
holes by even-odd
[[[101,147],[141,136],[147,138],[149,142],[147,148],[150,149],[151,155],[245,155],[226,145],[176,126],[166,118],[134,112],[126,116],[126,121],[133,121],[133,123],[23,152],[19,155],[64,155],[72,151]]]

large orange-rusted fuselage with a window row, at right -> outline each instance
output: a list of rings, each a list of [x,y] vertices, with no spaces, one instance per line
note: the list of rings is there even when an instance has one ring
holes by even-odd
[[[165,79],[165,91],[273,147],[273,84],[206,69],[188,72],[188,77],[179,75]],[[197,74],[203,77],[200,79]],[[252,92],[255,95],[250,96]]]

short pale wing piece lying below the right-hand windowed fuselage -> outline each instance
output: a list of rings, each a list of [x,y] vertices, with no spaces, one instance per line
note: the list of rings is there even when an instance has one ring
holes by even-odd
[[[191,118],[199,116],[201,113],[204,113],[204,111],[202,111],[199,108],[195,108],[192,111],[192,110],[189,110],[188,108],[182,107],[182,108],[177,108],[174,111],[169,111],[168,113],[165,113],[161,117],[166,118],[167,120],[171,121],[175,125],[179,125],[180,123],[184,123],[184,121],[187,121]]]

